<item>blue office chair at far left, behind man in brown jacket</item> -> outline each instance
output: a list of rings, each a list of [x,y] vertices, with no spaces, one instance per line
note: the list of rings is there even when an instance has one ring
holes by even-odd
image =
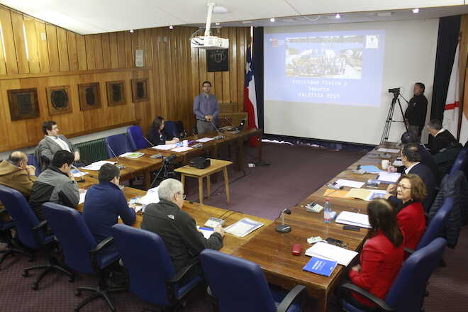
[[[28,277],[29,271],[35,269],[44,269],[40,273],[35,282],[31,286],[32,289],[37,290],[40,281],[49,273],[62,272],[68,275],[69,282],[73,282],[74,276],[67,269],[60,267],[55,257],[52,255],[52,249],[55,247],[53,235],[46,234],[47,221],[39,222],[31,210],[28,202],[23,194],[16,189],[10,189],[6,186],[0,185],[0,201],[4,204],[6,211],[10,214],[11,218],[16,225],[16,237],[18,240],[29,250],[48,249],[49,250],[49,264],[35,265],[23,269],[23,277]],[[23,255],[28,255],[29,260],[33,261],[34,257],[29,250],[16,250]]]

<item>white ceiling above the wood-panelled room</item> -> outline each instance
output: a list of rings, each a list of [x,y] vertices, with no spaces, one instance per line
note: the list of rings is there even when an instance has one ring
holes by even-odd
[[[468,0],[213,0],[227,13],[213,14],[213,23],[230,26],[272,26],[304,23],[389,21],[435,18],[468,13]],[[206,20],[206,0],[0,0],[30,16],[80,34],[199,25]],[[421,9],[413,14],[409,9]],[[392,11],[379,17],[373,11]],[[337,21],[334,13],[344,13]],[[349,13],[348,13],[349,12]],[[284,18],[294,17],[297,18]],[[305,16],[305,17],[304,17]],[[282,18],[283,17],[283,18]],[[252,21],[252,23],[242,23]],[[227,23],[227,24],[225,24]]]

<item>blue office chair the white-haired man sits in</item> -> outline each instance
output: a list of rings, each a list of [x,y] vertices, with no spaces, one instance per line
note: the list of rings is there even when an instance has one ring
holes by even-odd
[[[197,263],[180,272],[174,271],[160,235],[116,224],[112,227],[112,237],[128,269],[130,291],[145,301],[162,306],[163,311],[177,310],[184,296],[201,282],[200,277],[186,277]],[[182,279],[188,279],[188,282],[180,284]]]

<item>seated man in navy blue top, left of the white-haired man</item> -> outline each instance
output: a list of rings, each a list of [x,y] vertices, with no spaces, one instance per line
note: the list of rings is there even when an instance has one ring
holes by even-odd
[[[84,222],[96,241],[111,236],[112,225],[122,218],[126,225],[133,225],[136,213],[128,207],[123,191],[118,187],[121,172],[115,165],[104,164],[99,169],[99,184],[91,186],[84,197]]]

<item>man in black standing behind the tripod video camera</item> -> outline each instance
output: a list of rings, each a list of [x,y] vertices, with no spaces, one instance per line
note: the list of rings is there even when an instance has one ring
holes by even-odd
[[[408,131],[417,133],[421,136],[421,131],[425,124],[425,114],[428,111],[428,99],[424,96],[425,86],[422,82],[416,82],[413,87],[414,96],[408,104],[405,111],[405,123]]]

